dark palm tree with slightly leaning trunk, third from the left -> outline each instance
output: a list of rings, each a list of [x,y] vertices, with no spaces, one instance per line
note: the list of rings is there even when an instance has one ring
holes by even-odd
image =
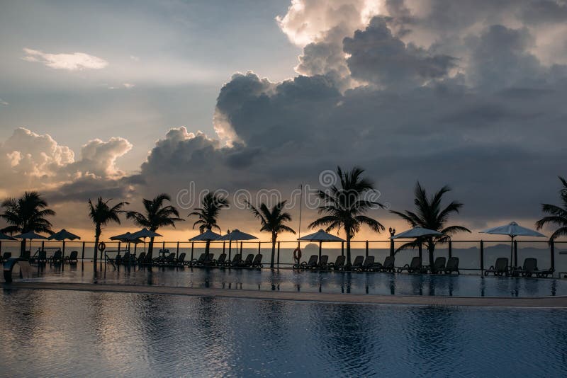
[[[142,200],[144,203],[144,214],[130,211],[126,213],[128,219],[134,219],[137,226],[145,227],[150,231],[157,231],[159,227],[173,226],[175,222],[183,221],[179,218],[179,212],[174,206],[164,206],[165,201],[171,201],[169,195],[162,193],[153,200]],[[152,260],[154,250],[154,237],[150,238],[150,246],[147,248],[147,260]]]

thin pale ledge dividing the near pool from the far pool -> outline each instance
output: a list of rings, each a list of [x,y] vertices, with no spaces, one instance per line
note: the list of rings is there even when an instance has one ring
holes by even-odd
[[[410,304],[416,306],[466,306],[515,308],[567,308],[567,296],[559,297],[428,297],[414,295],[331,294],[318,292],[278,292],[193,287],[108,285],[59,282],[4,283],[4,290],[74,290],[82,292],[120,292],[166,294],[192,297],[264,299],[279,301],[330,302],[346,304]]]

